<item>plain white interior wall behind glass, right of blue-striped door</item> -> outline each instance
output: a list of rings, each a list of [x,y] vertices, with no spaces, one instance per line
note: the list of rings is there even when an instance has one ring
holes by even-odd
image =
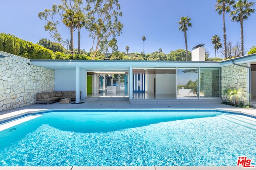
[[[176,74],[156,74],[156,94],[176,94]]]

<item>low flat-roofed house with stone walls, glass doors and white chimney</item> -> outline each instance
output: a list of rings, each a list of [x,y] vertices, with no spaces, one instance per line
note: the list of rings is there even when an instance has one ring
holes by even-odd
[[[65,90],[76,91],[76,103],[80,91],[81,99],[225,100],[226,88],[242,88],[256,97],[256,54],[220,62],[204,55],[203,45],[194,48],[192,61],[39,60],[0,51],[0,111],[33,104],[38,92]]]

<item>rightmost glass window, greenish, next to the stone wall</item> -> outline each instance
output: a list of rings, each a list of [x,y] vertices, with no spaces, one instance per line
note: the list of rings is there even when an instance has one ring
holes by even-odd
[[[200,68],[200,97],[220,97],[219,68]]]

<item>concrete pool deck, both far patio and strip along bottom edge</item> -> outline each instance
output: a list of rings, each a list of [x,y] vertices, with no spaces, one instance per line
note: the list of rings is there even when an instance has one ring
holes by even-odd
[[[233,112],[241,112],[256,116],[256,109],[242,109],[224,104],[197,104],[186,102],[186,104],[171,104],[170,102],[129,102],[126,98],[108,98],[101,100],[82,100],[82,104],[34,104],[0,112],[0,119],[10,117],[28,111],[38,111],[44,109],[220,109]],[[72,102],[71,102],[72,103]],[[10,166],[0,167],[0,170],[240,170],[241,166],[106,166],[106,167],[86,167],[86,166],[64,166],[64,167],[28,167]]]

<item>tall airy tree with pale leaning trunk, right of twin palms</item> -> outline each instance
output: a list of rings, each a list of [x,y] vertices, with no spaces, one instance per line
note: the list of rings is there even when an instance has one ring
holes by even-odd
[[[111,47],[112,50],[117,51],[115,37],[122,33],[124,25],[118,21],[118,18],[122,17],[118,0],[86,0],[86,2],[88,12],[86,29],[90,32],[89,37],[93,39],[92,50],[94,50],[94,43],[96,43],[92,55],[92,60],[94,60],[98,49],[108,51],[108,47]],[[111,37],[112,39],[110,39]]]

